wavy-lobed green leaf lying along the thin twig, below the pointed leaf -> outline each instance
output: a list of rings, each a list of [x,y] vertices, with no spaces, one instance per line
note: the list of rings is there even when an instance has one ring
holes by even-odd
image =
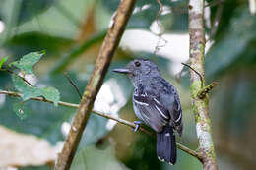
[[[28,100],[33,97],[43,96],[47,100],[50,100],[54,103],[55,106],[58,106],[60,100],[59,91],[52,87],[48,86],[45,88],[37,88],[34,86],[27,85],[21,78],[16,75],[12,76],[14,86],[17,90],[23,93],[23,100]]]

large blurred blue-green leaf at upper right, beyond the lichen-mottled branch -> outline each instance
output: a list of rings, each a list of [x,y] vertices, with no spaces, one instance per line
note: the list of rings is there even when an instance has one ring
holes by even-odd
[[[228,71],[229,66],[234,65],[241,58],[251,62],[251,64],[256,61],[256,32],[254,31],[256,16],[252,17],[247,8],[237,9],[234,13],[235,17],[231,18],[228,28],[226,28],[229,33],[217,39],[206,56],[206,77],[208,79],[213,79]],[[247,49],[251,50],[249,55],[245,56],[244,53],[247,52]]]

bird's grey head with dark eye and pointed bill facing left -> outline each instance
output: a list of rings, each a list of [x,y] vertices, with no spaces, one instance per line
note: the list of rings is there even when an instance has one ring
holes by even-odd
[[[117,68],[113,72],[127,75],[135,87],[139,84],[148,84],[151,79],[160,76],[158,66],[147,59],[135,59],[125,68]]]

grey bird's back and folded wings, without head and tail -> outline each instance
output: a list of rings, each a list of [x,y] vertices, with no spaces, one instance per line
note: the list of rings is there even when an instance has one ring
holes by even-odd
[[[157,77],[147,85],[138,85],[134,90],[134,110],[137,117],[160,132],[170,124],[182,133],[182,111],[174,86]],[[181,128],[180,128],[181,127]]]

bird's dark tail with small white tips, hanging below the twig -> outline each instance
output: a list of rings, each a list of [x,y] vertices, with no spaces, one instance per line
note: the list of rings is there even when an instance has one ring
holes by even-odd
[[[161,161],[172,165],[176,162],[176,140],[171,126],[164,127],[163,131],[157,134],[157,155]]]

